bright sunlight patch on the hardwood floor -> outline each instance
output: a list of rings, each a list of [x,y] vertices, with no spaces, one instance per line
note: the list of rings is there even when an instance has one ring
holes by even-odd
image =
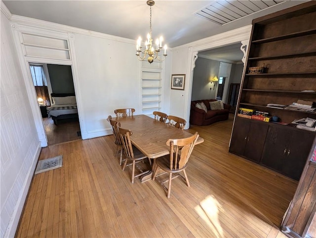
[[[212,195],[208,195],[195,207],[197,214],[205,221],[217,238],[223,237],[223,228],[219,221],[221,204]]]

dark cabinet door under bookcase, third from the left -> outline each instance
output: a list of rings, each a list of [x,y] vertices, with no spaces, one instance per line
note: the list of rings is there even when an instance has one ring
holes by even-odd
[[[262,164],[282,170],[283,159],[287,153],[287,144],[292,130],[287,128],[269,126],[266,143],[262,154]]]

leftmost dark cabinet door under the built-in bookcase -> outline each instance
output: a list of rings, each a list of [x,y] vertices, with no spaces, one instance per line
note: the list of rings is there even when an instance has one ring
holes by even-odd
[[[236,117],[229,151],[237,155],[243,155],[247,143],[250,120]]]

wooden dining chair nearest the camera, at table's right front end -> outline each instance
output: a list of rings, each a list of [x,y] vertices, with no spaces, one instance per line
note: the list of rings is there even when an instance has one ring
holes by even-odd
[[[154,175],[153,180],[156,179],[158,168],[161,168],[164,173],[158,176],[169,173],[169,179],[160,182],[164,189],[167,190],[167,197],[170,198],[171,181],[177,177],[185,179],[187,186],[190,187],[189,179],[186,173],[189,157],[197,142],[198,133],[196,132],[192,137],[184,139],[169,139],[166,144],[170,146],[170,154],[164,155],[154,160]],[[183,171],[184,177],[179,173]],[[172,177],[172,174],[176,174]],[[168,188],[163,183],[168,182]]]

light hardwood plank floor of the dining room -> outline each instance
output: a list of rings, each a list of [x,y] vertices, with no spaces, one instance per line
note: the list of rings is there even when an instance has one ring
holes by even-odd
[[[63,167],[34,176],[16,237],[285,237],[282,216],[297,182],[228,153],[232,119],[192,126],[187,174],[168,199],[157,181],[130,183],[113,136],[42,148]]]

